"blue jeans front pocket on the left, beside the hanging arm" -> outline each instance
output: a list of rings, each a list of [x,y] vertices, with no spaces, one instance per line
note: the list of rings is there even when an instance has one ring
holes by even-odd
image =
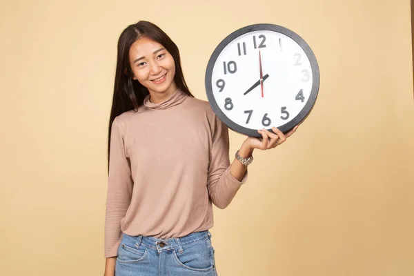
[[[119,244],[117,262],[135,263],[141,262],[147,255],[146,246],[137,243],[132,237],[125,237]]]

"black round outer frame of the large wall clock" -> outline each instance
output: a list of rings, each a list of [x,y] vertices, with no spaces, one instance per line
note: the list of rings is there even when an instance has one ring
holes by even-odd
[[[234,121],[230,120],[224,112],[221,111],[221,108],[219,108],[217,101],[215,100],[215,97],[213,96],[213,86],[212,86],[212,74],[213,74],[213,68],[215,65],[215,62],[217,58],[219,57],[220,53],[224,48],[236,39],[237,37],[240,37],[243,34],[246,34],[248,32],[253,32],[257,30],[270,30],[275,32],[280,32],[282,34],[285,34],[286,36],[290,37],[291,39],[295,40],[299,46],[304,50],[306,56],[308,57],[309,61],[311,62],[311,68],[312,68],[312,75],[313,75],[313,85],[311,89],[311,94],[309,95],[309,99],[306,102],[304,108],[299,112],[299,114],[293,118],[292,120],[288,121],[286,124],[279,126],[278,129],[281,130],[286,134],[289,130],[294,128],[297,124],[301,124],[306,117],[311,113],[311,110],[313,109],[313,106],[315,105],[315,101],[317,99],[317,94],[319,92],[319,82],[320,82],[320,75],[319,75],[319,66],[317,64],[316,57],[311,50],[311,47],[300,37],[298,34],[293,32],[292,30],[289,30],[288,28],[285,28],[283,26],[275,25],[272,23],[257,23],[249,26],[245,26],[243,28],[239,28],[239,30],[235,30],[231,34],[229,34],[225,39],[223,39],[219,45],[215,48],[213,54],[210,57],[210,60],[208,61],[207,68],[206,68],[206,76],[205,76],[205,87],[206,87],[206,95],[208,102],[210,103],[211,108],[213,108],[213,111],[219,117],[221,121],[224,122],[230,128],[231,130],[235,132],[239,132],[244,135],[248,135],[250,137],[262,137],[257,130],[252,130],[250,128],[245,128],[244,126],[240,126],[239,124],[236,124]],[[273,132],[273,130],[268,129],[270,132]]]

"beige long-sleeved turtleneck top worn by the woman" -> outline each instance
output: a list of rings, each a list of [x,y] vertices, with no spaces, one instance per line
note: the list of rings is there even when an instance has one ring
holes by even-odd
[[[230,174],[228,128],[208,101],[176,90],[162,103],[149,95],[111,130],[105,257],[122,233],[161,239],[213,227],[213,204],[226,208],[242,181]]]

